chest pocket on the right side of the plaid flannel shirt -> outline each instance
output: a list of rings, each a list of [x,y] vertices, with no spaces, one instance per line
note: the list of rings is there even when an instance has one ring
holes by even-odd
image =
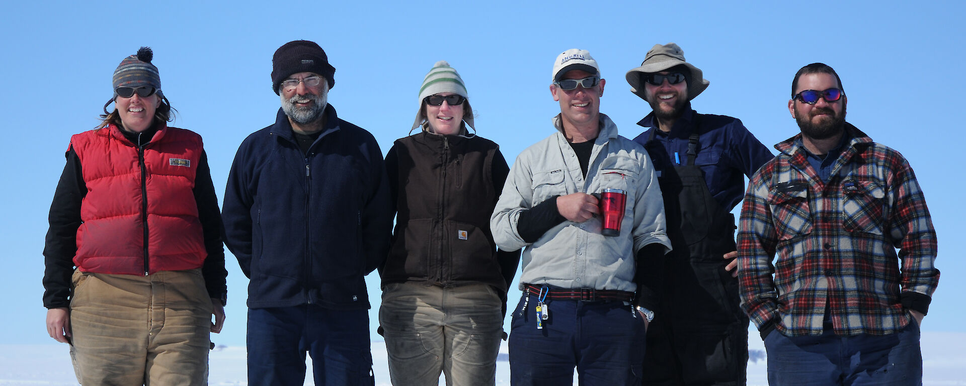
[[[848,232],[882,234],[886,192],[874,180],[842,181],[842,227]]]

